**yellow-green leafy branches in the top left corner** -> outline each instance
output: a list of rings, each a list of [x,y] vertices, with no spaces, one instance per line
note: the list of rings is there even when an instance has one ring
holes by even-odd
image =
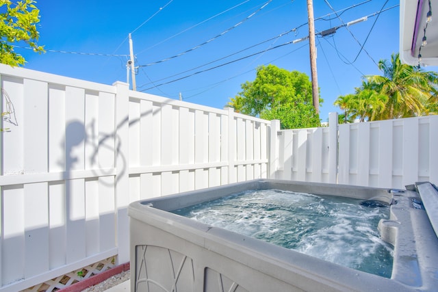
[[[0,63],[11,66],[25,64],[24,57],[14,52],[14,43],[25,42],[36,52],[44,51],[37,44],[39,33],[36,24],[40,22],[40,10],[34,3],[34,0],[0,0]]]

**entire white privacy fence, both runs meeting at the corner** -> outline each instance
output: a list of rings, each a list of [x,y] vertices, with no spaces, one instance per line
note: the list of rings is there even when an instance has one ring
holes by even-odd
[[[150,94],[0,64],[0,291],[110,256],[134,200],[254,178],[438,183],[438,116],[279,129]]]

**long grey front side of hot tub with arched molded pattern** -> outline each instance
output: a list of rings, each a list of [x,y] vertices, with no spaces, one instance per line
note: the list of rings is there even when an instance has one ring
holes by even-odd
[[[131,291],[412,291],[142,204],[129,216]]]

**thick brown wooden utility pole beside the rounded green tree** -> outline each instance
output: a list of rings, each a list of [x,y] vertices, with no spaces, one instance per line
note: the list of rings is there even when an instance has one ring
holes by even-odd
[[[307,14],[309,16],[309,51],[310,51],[310,72],[312,80],[313,107],[316,114],[320,113],[320,94],[318,90],[318,72],[316,71],[316,45],[315,45],[315,24],[313,22],[313,1],[307,0]]]

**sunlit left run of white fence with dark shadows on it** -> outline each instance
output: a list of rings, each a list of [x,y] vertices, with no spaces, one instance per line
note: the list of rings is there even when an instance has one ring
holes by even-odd
[[[118,255],[127,206],[268,176],[270,122],[0,65],[0,291]]]

